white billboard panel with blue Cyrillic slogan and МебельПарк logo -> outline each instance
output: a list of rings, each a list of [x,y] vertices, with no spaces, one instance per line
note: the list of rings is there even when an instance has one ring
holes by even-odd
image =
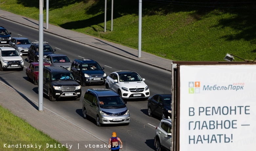
[[[256,65],[180,66],[180,151],[256,150]]]

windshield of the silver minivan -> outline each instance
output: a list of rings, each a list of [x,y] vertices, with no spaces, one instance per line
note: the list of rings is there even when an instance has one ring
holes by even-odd
[[[125,106],[120,96],[104,96],[98,97],[101,107],[123,107]]]

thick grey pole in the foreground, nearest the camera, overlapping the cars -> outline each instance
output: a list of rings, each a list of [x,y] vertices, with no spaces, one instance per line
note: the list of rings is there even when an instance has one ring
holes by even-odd
[[[39,74],[38,74],[38,111],[43,111],[43,42],[44,14],[43,0],[39,0]]]

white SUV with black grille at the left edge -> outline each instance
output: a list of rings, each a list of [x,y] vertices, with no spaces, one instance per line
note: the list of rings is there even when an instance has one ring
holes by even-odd
[[[0,70],[18,68],[23,70],[24,62],[22,57],[14,48],[0,47]]]

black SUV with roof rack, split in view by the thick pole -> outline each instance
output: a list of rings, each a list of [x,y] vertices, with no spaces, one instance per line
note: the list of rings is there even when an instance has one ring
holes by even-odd
[[[39,42],[32,42],[28,49],[28,62],[38,62],[39,61]],[[46,58],[48,54],[55,54],[56,49],[48,44],[48,42],[43,43],[43,58]]]

